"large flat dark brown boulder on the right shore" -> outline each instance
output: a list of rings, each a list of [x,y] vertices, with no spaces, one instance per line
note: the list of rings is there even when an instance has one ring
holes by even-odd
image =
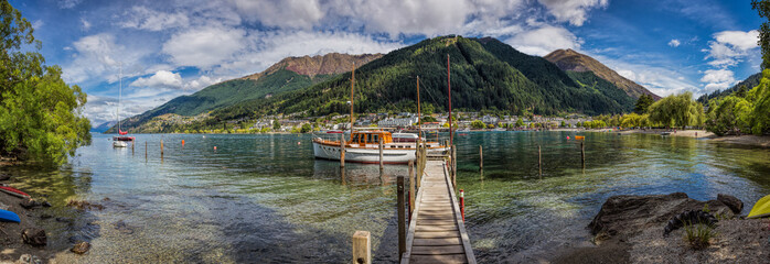
[[[701,210],[708,205],[715,216],[732,217],[732,210],[718,200],[699,201],[684,193],[648,196],[612,196],[601,206],[588,228],[592,234],[633,234],[645,228],[663,228],[674,216],[687,210]]]

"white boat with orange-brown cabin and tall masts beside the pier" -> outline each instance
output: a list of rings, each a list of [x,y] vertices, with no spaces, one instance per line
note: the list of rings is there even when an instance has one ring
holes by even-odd
[[[449,70],[449,62],[447,61],[447,70]],[[449,79],[447,79],[449,80]],[[350,138],[345,140],[345,134],[341,134],[339,140],[324,140],[320,136],[314,136],[312,140],[313,144],[313,155],[316,158],[340,161],[340,154],[344,152],[345,162],[353,163],[379,163],[379,144],[382,143],[383,152],[383,163],[384,164],[407,164],[409,161],[416,160],[417,144],[415,141],[420,142],[420,145],[427,148],[428,153],[442,153],[449,148],[446,145],[441,145],[439,142],[427,142],[419,134],[407,136],[404,133],[391,133],[382,129],[365,128],[356,130],[353,128],[354,113],[353,113],[353,96],[355,88],[355,68],[352,70],[351,76],[351,133]],[[451,105],[450,105],[451,106]],[[417,112],[418,112],[418,128],[421,124],[419,122],[419,77],[417,79]],[[451,122],[451,121],[450,121]],[[421,134],[421,133],[420,133]],[[394,141],[394,138],[397,140]],[[414,138],[415,141],[403,141],[404,138]],[[343,147],[344,145],[344,147]]]

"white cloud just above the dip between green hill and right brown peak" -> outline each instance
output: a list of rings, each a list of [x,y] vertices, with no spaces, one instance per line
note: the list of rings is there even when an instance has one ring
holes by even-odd
[[[582,40],[568,30],[553,25],[516,34],[504,42],[520,52],[538,56],[545,56],[558,48],[578,50],[582,44]]]

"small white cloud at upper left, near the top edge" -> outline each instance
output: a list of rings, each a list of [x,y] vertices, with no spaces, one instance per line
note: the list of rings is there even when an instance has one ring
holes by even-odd
[[[128,20],[122,21],[120,26],[129,29],[161,31],[190,25],[190,19],[182,12],[165,13],[146,7],[133,7],[125,15]]]

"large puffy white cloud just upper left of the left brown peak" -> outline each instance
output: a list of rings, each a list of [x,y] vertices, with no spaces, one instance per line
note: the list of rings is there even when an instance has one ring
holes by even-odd
[[[162,50],[177,66],[208,69],[229,62],[244,47],[245,35],[245,31],[232,28],[193,29],[171,36]]]

